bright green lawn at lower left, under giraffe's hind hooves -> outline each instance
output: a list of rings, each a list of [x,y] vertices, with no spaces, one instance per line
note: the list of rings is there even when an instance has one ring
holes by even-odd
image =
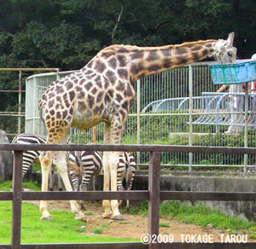
[[[11,237],[10,201],[0,201],[0,243],[9,244]],[[90,231],[82,229],[85,223],[74,219],[70,211],[51,211],[52,221],[40,220],[38,206],[22,203],[21,243],[96,243],[122,242],[131,239],[98,237],[87,235]],[[102,229],[101,229],[102,230]],[[103,230],[102,230],[103,232]]]

